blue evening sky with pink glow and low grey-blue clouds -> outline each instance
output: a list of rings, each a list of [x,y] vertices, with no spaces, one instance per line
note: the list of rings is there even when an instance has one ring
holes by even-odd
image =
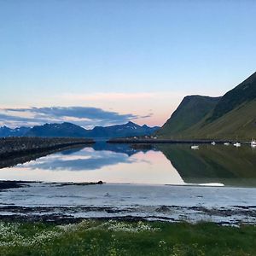
[[[253,0],[0,0],[0,125],[163,125],[254,73]]]

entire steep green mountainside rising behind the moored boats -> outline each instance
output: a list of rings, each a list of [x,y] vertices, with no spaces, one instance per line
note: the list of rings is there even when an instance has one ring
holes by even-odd
[[[184,97],[156,134],[173,139],[256,137],[256,73],[222,97]]]

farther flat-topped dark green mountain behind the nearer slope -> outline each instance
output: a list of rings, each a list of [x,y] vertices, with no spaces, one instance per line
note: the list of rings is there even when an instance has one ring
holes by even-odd
[[[172,113],[170,119],[158,131],[160,137],[175,137],[183,134],[183,131],[197,124],[205,118],[219,102],[220,97],[209,96],[185,96]]]

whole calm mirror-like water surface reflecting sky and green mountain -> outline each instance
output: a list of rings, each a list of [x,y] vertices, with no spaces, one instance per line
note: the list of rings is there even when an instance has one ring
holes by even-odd
[[[201,145],[192,150],[189,144],[137,149],[96,143],[4,167],[0,179],[256,187],[256,150],[249,145]]]

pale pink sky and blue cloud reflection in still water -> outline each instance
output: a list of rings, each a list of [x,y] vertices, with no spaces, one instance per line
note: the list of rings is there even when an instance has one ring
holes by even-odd
[[[128,153],[83,148],[27,162],[0,170],[1,179],[40,180],[51,182],[107,183],[174,183],[183,184],[182,178],[160,151]]]

